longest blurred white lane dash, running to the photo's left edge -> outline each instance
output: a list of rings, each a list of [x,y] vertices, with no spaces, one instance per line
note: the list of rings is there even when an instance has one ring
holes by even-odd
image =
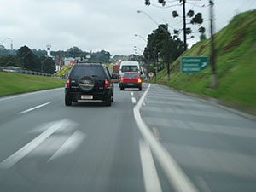
[[[19,160],[24,158],[26,154],[29,154],[34,148],[37,148],[39,144],[43,143],[44,140],[52,135],[55,131],[63,126],[69,126],[69,121],[67,119],[63,119],[46,126],[48,126],[46,131],[34,138],[30,143],[27,143],[23,148],[20,148],[20,150],[15,152],[15,154],[10,155],[6,160],[3,160],[0,167],[9,168],[14,166]]]

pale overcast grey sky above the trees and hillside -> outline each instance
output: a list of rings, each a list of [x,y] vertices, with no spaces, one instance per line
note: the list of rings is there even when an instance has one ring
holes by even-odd
[[[100,51],[111,55],[142,55],[148,34],[157,28],[156,23],[168,23],[173,28],[183,27],[182,18],[172,18],[177,10],[182,16],[179,1],[167,1],[161,8],[158,0],[149,7],[144,0],[0,0],[0,44],[10,49],[28,46],[30,49],[67,50],[73,46],[84,51]],[[209,37],[208,0],[187,0],[186,10],[201,12],[202,26]],[[215,31],[226,26],[238,13],[256,9],[256,0],[213,0]],[[137,10],[143,12],[138,14]],[[150,19],[151,18],[151,19]],[[156,23],[155,23],[156,22]],[[196,27],[193,26],[196,30]],[[138,34],[136,37],[135,34]],[[199,40],[189,39],[189,46]],[[179,36],[183,40],[183,35]]]

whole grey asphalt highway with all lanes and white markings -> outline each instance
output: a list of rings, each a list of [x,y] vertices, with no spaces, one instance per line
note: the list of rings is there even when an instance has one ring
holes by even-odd
[[[0,191],[256,191],[255,120],[156,84],[63,93],[0,98]]]

